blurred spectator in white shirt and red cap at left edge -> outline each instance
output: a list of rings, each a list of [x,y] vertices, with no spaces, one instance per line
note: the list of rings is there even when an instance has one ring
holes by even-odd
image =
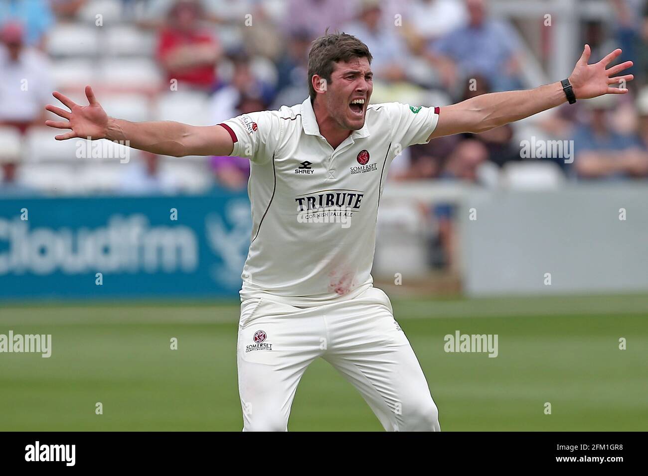
[[[0,29],[0,125],[25,132],[45,121],[45,104],[53,89],[49,62],[43,54],[25,46],[19,23]]]

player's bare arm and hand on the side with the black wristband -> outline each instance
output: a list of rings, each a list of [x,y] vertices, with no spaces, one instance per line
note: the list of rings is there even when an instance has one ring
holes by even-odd
[[[628,89],[612,87],[632,80],[632,74],[614,76],[632,66],[631,61],[605,69],[621,54],[616,49],[598,63],[588,65],[590,47],[585,45],[581,58],[569,76],[577,99],[595,98],[604,94],[625,94]],[[444,106],[439,111],[439,122],[430,139],[461,132],[480,133],[515,120],[524,119],[555,108],[566,101],[560,82],[536,87],[528,91],[505,91],[475,96],[463,102]]]

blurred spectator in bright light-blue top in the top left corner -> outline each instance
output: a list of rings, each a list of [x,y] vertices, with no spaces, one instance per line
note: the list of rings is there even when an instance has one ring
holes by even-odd
[[[25,28],[25,45],[45,50],[46,34],[54,26],[49,0],[0,1],[0,27],[10,22]]]

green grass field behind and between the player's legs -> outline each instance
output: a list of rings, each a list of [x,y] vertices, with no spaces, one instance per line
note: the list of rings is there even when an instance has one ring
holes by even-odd
[[[648,296],[393,306],[443,431],[646,429]],[[0,430],[240,431],[237,321],[236,302],[0,306],[0,334],[52,334],[49,359],[0,354]],[[456,330],[498,334],[498,357],[444,352]],[[382,431],[321,359],[297,389],[288,429]]]

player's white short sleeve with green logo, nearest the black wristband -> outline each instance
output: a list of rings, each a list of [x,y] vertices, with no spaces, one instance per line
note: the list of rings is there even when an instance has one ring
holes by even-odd
[[[439,108],[410,106],[400,102],[383,104],[389,113],[392,141],[406,148],[413,144],[427,144],[439,121]]]

